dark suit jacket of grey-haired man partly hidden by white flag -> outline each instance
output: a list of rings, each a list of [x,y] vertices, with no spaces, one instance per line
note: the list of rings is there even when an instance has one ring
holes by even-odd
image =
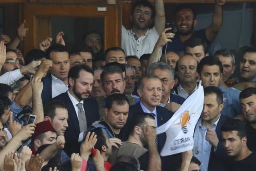
[[[132,118],[133,115],[136,113],[143,112],[140,103],[137,103],[135,105],[131,105],[129,109],[129,115],[128,119],[126,122],[126,125],[130,122],[130,119]],[[157,125],[163,125],[165,122],[167,122],[173,115],[173,112],[161,107],[161,106],[156,106],[156,113],[157,113]],[[166,141],[166,133],[161,133],[158,135],[158,143],[159,143],[159,152],[163,149],[163,145]],[[162,170],[163,171],[170,171],[173,168],[173,165],[175,165],[175,155],[172,156],[166,156],[166,157],[161,157],[161,162],[162,162]]]

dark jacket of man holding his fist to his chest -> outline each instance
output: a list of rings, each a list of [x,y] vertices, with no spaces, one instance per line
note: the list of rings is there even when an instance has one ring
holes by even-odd
[[[208,164],[208,171],[227,170],[226,167],[227,167],[227,163],[230,162],[230,158],[226,154],[223,141],[221,140],[221,126],[224,125],[225,121],[229,119],[230,119],[229,117],[226,117],[225,115],[221,114],[220,120],[217,123],[215,132],[219,139],[219,143],[215,151],[214,151],[214,147],[212,146],[210,158],[209,158],[209,164]]]

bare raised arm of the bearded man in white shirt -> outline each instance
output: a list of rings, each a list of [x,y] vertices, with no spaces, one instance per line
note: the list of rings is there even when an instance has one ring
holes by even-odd
[[[161,34],[165,26],[165,12],[163,0],[155,0],[155,29]]]

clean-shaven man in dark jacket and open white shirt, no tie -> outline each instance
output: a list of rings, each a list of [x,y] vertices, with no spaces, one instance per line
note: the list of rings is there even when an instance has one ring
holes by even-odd
[[[52,61],[52,67],[51,74],[47,74],[42,79],[43,104],[68,90],[68,71],[70,69],[68,50],[63,45],[50,46],[46,51],[46,58]]]

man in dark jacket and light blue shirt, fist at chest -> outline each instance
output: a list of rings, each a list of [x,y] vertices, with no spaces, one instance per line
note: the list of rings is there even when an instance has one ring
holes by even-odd
[[[204,88],[204,108],[196,124],[193,148],[193,156],[200,160],[202,171],[226,170],[228,156],[221,140],[221,126],[229,118],[221,114],[223,107],[221,89]]]

